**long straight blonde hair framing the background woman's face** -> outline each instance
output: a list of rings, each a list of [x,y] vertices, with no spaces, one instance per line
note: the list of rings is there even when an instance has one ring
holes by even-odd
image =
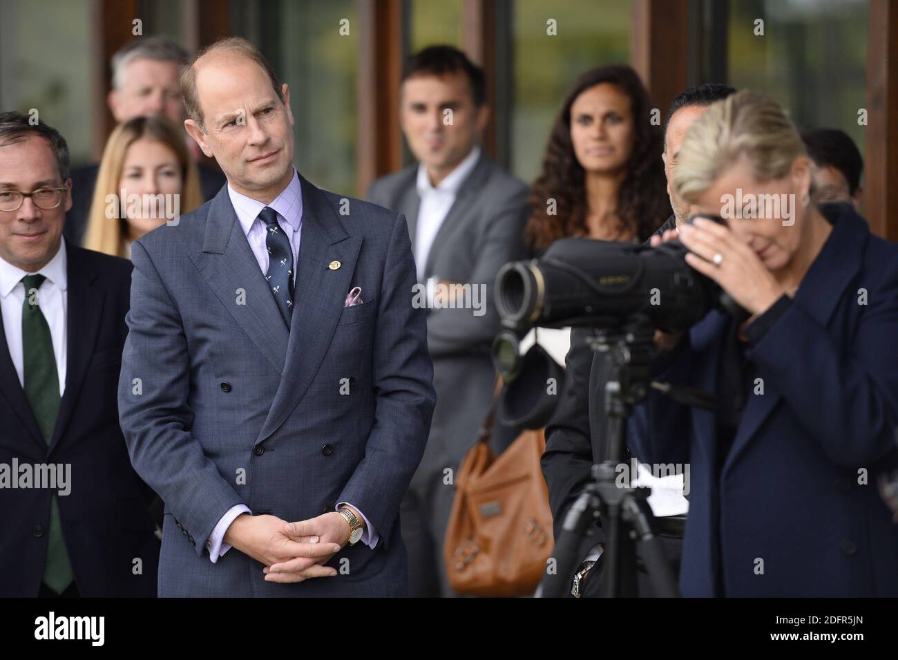
[[[163,143],[177,156],[181,174],[180,213],[188,213],[203,203],[197,164],[193,162],[183,133],[164,117],[128,119],[112,131],[103,150],[97,184],[93,189],[91,210],[87,215],[84,247],[88,250],[105,252],[117,257],[125,256],[128,220],[121,213],[125,201],[119,200],[118,217],[110,218],[106,216],[106,209],[109,207],[106,197],[115,195],[118,198],[125,154],[128,147],[142,137]]]

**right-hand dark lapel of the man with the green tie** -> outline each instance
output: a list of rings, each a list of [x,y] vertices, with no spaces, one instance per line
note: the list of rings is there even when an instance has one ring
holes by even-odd
[[[67,241],[66,277],[66,393],[59,402],[59,415],[48,454],[56,448],[75,410],[84,374],[97,343],[105,297],[101,286],[92,286],[97,271],[87,259],[87,251]]]

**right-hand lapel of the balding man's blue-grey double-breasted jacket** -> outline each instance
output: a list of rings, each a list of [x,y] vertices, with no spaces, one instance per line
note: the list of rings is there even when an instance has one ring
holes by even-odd
[[[362,246],[361,237],[346,233],[339,216],[321,190],[302,176],[299,180],[303,188],[303,226],[300,230],[295,309],[284,374],[257,444],[277,431],[303,399],[330,347],[346,295],[357,284],[352,277]],[[340,267],[331,270],[328,265],[335,260],[340,262]],[[374,300],[366,304],[374,304]],[[334,387],[337,385],[334,383]]]

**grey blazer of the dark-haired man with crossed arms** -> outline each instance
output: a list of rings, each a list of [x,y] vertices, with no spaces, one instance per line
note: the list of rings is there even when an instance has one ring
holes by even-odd
[[[409,222],[415,245],[418,224],[418,165],[374,181],[367,199],[391,208]],[[499,331],[493,297],[498,269],[524,259],[527,186],[492,163],[486,154],[463,181],[453,207],[436,233],[424,277],[484,285],[485,313],[430,309],[427,345],[434,360],[436,409],[425,457],[412,482],[432,488],[445,468],[457,469],[477,438],[496,385],[489,355]]]

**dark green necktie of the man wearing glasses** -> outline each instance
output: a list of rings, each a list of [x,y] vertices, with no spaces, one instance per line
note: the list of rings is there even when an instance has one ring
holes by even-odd
[[[25,300],[22,303],[22,363],[24,366],[25,397],[38,420],[40,433],[47,444],[53,437],[59,415],[59,374],[53,355],[53,337],[47,319],[38,305],[38,290],[46,277],[26,275]],[[44,564],[44,584],[62,594],[72,584],[75,574],[68,560],[66,541],[62,535],[59,503],[56,493],[50,504],[50,524],[47,531],[47,561]]]

